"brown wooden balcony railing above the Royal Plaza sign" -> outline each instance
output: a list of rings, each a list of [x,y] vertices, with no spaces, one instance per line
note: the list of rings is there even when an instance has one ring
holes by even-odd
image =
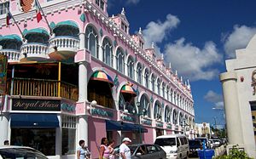
[[[13,90],[11,90],[13,82]],[[13,78],[8,82],[8,94],[26,96],[62,97],[78,100],[79,88],[67,82],[45,79]]]

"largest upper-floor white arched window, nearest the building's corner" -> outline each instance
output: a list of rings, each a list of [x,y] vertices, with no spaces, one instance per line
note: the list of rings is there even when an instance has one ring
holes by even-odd
[[[90,54],[99,58],[98,54],[98,35],[92,26],[87,26],[85,31],[85,48],[90,50]]]

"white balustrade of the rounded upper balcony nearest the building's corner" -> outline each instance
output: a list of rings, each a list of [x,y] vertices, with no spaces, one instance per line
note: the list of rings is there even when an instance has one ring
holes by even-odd
[[[69,36],[54,37],[49,40],[49,49],[57,48],[58,51],[69,51],[76,53],[79,49],[79,38]],[[49,53],[54,50],[49,50]]]

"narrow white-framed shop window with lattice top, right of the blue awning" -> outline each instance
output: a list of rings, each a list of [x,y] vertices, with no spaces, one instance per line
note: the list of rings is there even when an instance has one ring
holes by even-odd
[[[76,140],[76,117],[62,115],[61,119],[62,155],[74,154]]]

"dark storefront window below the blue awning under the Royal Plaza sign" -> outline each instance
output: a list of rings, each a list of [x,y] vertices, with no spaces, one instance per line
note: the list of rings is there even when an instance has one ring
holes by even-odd
[[[12,128],[11,145],[29,146],[55,156],[55,128]]]

